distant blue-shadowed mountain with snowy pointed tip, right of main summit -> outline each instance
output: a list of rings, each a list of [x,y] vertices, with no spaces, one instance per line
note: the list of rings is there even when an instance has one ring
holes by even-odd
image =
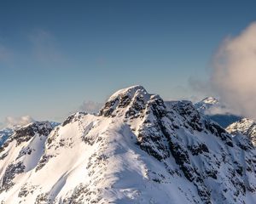
[[[227,109],[226,105],[223,105],[213,97],[207,97],[201,101],[195,103],[195,108],[201,114],[214,122],[217,122],[221,127],[228,127],[231,123],[241,120],[241,116],[232,114]]]

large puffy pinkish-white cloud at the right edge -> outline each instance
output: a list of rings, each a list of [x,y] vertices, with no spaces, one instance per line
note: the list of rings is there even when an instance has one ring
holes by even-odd
[[[256,22],[224,40],[214,56],[210,80],[233,112],[256,119]]]

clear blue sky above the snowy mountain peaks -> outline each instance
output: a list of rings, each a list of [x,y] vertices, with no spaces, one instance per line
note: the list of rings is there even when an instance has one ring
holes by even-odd
[[[8,1],[0,5],[0,122],[61,121],[84,101],[141,84],[200,98],[227,36],[256,20],[255,1]],[[208,93],[211,94],[211,93]]]

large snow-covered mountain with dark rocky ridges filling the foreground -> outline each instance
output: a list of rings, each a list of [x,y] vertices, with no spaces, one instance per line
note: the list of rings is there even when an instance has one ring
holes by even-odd
[[[0,149],[0,200],[15,203],[255,203],[253,144],[141,86],[97,116],[34,122]]]

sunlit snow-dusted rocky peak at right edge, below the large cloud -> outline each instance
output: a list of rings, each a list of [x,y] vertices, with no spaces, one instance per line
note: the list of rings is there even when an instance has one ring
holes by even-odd
[[[227,132],[231,134],[243,134],[248,137],[253,143],[254,146],[256,146],[256,122],[243,118],[239,122],[234,122],[230,124],[229,127],[226,128]]]

